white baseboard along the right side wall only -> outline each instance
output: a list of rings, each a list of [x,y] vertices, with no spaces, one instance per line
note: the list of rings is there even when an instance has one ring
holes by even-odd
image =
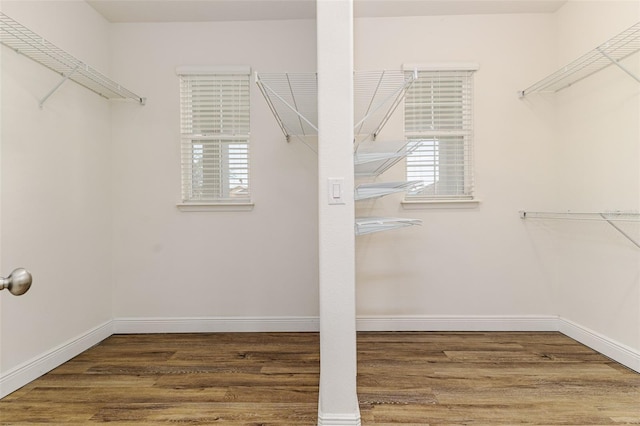
[[[565,318],[558,319],[558,331],[640,373],[640,351]]]

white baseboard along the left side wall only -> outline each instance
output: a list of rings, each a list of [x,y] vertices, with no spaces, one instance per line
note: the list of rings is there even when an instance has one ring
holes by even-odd
[[[0,374],[0,398],[64,364],[113,334],[111,321]]]

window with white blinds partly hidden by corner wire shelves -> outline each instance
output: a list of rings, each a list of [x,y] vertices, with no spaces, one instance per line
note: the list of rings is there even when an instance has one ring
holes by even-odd
[[[404,131],[407,180],[424,186],[407,200],[473,199],[475,69],[418,69],[404,101]]]

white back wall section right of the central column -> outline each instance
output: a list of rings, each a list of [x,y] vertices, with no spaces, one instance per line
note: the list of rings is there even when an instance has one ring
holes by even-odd
[[[359,215],[422,219],[421,227],[359,237],[359,315],[551,315],[552,271],[519,219],[556,191],[553,121],[517,91],[555,62],[548,14],[356,20],[356,69],[475,62],[472,208],[403,209],[402,195],[362,203]],[[402,139],[402,111],[380,140]],[[403,165],[381,180],[404,178]]]

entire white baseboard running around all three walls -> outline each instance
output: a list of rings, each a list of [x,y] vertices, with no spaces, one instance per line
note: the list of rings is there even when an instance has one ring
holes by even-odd
[[[531,316],[360,316],[358,331],[559,331],[603,355],[640,372],[640,350],[630,348],[570,320]],[[3,374],[0,398],[67,362],[112,334],[207,332],[317,332],[318,317],[116,318],[71,339]],[[354,419],[330,414],[324,425]],[[333,421],[338,423],[332,423]],[[319,423],[320,424],[320,423]]]

